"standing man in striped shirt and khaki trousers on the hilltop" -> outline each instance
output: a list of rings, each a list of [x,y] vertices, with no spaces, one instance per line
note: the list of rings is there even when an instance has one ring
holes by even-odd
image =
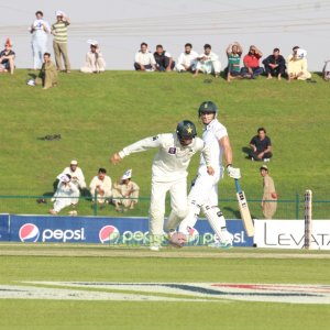
[[[65,70],[70,73],[70,62],[67,55],[67,26],[70,24],[69,18],[61,10],[56,11],[56,23],[52,25],[52,34],[54,35],[53,48],[55,53],[56,67],[59,72],[64,72],[62,58],[64,61]]]

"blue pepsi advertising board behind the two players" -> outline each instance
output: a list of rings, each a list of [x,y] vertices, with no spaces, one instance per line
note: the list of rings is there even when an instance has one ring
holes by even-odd
[[[234,235],[234,246],[253,245],[241,220],[227,224]],[[10,216],[8,241],[142,245],[148,244],[147,230],[147,218]],[[208,221],[198,221],[190,231],[189,245],[208,245],[213,241]]]

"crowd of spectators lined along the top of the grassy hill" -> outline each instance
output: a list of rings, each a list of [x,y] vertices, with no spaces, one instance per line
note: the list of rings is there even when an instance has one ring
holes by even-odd
[[[29,28],[32,34],[33,68],[41,70],[38,74],[40,80],[30,80],[29,85],[34,86],[36,82],[40,82],[45,89],[57,85],[57,72],[70,73],[70,62],[67,52],[70,19],[61,10],[57,10],[55,15],[56,22],[51,25],[44,20],[43,12],[37,11],[35,20]],[[50,59],[51,54],[47,52],[48,34],[53,35],[56,66]],[[80,70],[88,74],[105,72],[106,61],[98,42],[95,40],[88,40],[87,42],[90,44],[90,50],[86,54],[86,62]],[[292,79],[315,81],[308,72],[307,52],[299,46],[294,46],[293,53],[286,58],[280,55],[279,48],[275,47],[273,54],[266,56],[262,62],[263,53],[254,45],[251,45],[249,52],[243,56],[242,46],[240,43],[234,42],[227,47],[226,53],[228,64],[223,73],[228,81],[243,78],[255,79],[260,75],[265,75],[267,79],[286,77],[288,81]],[[45,54],[47,54],[47,58],[45,58]],[[8,72],[13,74],[15,68],[14,59],[15,53],[12,50],[11,40],[8,37],[4,50],[0,53],[0,73]],[[327,80],[330,78],[329,65],[330,62],[326,62],[323,68],[323,78]],[[164,50],[163,45],[158,44],[155,52],[152,52],[144,42],[141,43],[141,47],[135,54],[133,66],[136,70],[143,72],[190,72],[194,74],[194,77],[202,73],[213,75],[216,78],[220,76],[223,67],[218,54],[212,52],[210,44],[205,44],[204,52],[198,54],[193,50],[190,43],[186,43],[184,52],[175,61]]]

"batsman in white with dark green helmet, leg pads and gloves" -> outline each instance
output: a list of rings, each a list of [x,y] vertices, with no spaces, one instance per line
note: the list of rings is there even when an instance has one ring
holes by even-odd
[[[232,150],[228,132],[218,121],[217,112],[217,106],[211,101],[202,102],[198,110],[198,116],[205,125],[202,140],[210,148],[215,175],[207,174],[206,160],[201,155],[197,178],[188,196],[189,213],[179,224],[179,232],[188,237],[189,229],[194,228],[202,210],[220,240],[219,246],[229,248],[232,245],[233,235],[228,232],[226,219],[218,207],[218,182],[223,177],[223,156],[230,177],[240,178],[241,170],[232,167]]]

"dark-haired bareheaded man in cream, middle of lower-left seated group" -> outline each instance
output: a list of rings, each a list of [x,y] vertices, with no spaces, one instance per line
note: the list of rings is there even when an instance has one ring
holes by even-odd
[[[97,198],[97,202],[105,204],[109,202],[109,199],[111,198],[112,182],[111,178],[106,174],[106,168],[99,168],[98,175],[95,176],[90,182],[89,189],[92,197],[92,202],[96,202],[95,198]]]

